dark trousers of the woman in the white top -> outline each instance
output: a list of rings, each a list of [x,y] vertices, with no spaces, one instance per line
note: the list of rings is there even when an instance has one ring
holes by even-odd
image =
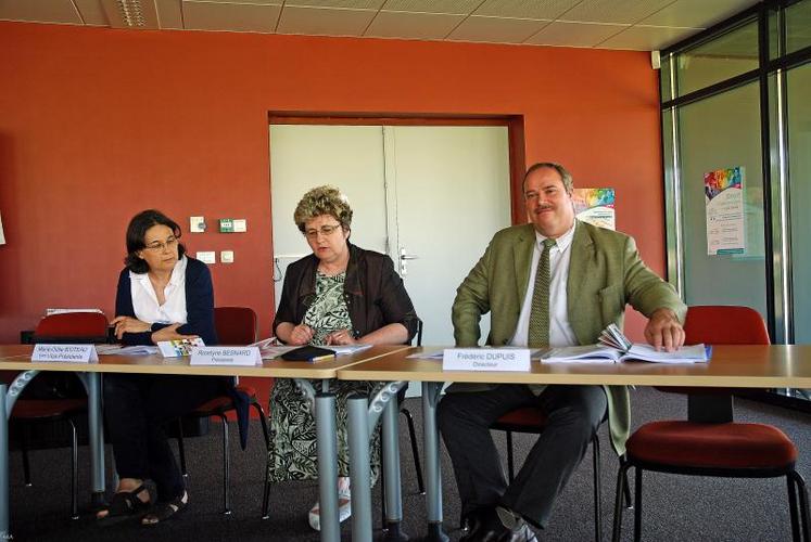
[[[226,393],[230,378],[106,374],[104,416],[113,456],[122,478],[151,479],[159,501],[186,489],[164,425]]]

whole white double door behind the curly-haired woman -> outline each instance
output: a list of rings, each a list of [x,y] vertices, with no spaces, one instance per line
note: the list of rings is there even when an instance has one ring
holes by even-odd
[[[398,267],[422,344],[453,345],[456,288],[510,223],[508,156],[506,127],[271,126],[276,302],[287,264],[309,250],[293,209],[308,189],[334,184],[354,211],[352,242]]]

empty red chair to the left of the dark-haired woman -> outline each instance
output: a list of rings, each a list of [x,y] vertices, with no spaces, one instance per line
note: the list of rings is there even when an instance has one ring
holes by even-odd
[[[107,319],[100,312],[69,312],[63,314],[52,314],[43,318],[34,332],[34,343],[49,344],[69,344],[69,343],[106,343],[107,339]],[[42,378],[49,379],[49,388],[53,388],[53,396],[59,386],[55,384],[67,382],[64,376],[74,377],[72,374],[54,375],[51,373],[38,375],[35,383]],[[73,378],[72,378],[73,380]],[[25,485],[31,485],[30,463],[28,459],[28,436],[30,428],[36,424],[67,422],[71,426],[71,517],[77,519],[78,514],[78,439],[76,435],[76,424],[74,416],[87,412],[87,397],[81,398],[54,398],[54,399],[28,399],[23,397],[17,400],[11,412],[11,422],[21,424],[23,452],[23,474]]]

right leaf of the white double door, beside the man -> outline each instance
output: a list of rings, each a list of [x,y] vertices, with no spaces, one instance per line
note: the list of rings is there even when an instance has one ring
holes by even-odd
[[[387,181],[396,192],[389,238],[422,319],[424,346],[454,344],[456,288],[493,234],[510,224],[507,141],[506,127],[387,129]],[[490,314],[482,335],[489,330]]]

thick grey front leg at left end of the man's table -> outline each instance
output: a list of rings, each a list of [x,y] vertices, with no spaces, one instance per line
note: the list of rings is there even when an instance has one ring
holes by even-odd
[[[352,474],[352,540],[371,542],[371,476],[369,474],[369,399],[353,395],[346,400],[346,428]]]

